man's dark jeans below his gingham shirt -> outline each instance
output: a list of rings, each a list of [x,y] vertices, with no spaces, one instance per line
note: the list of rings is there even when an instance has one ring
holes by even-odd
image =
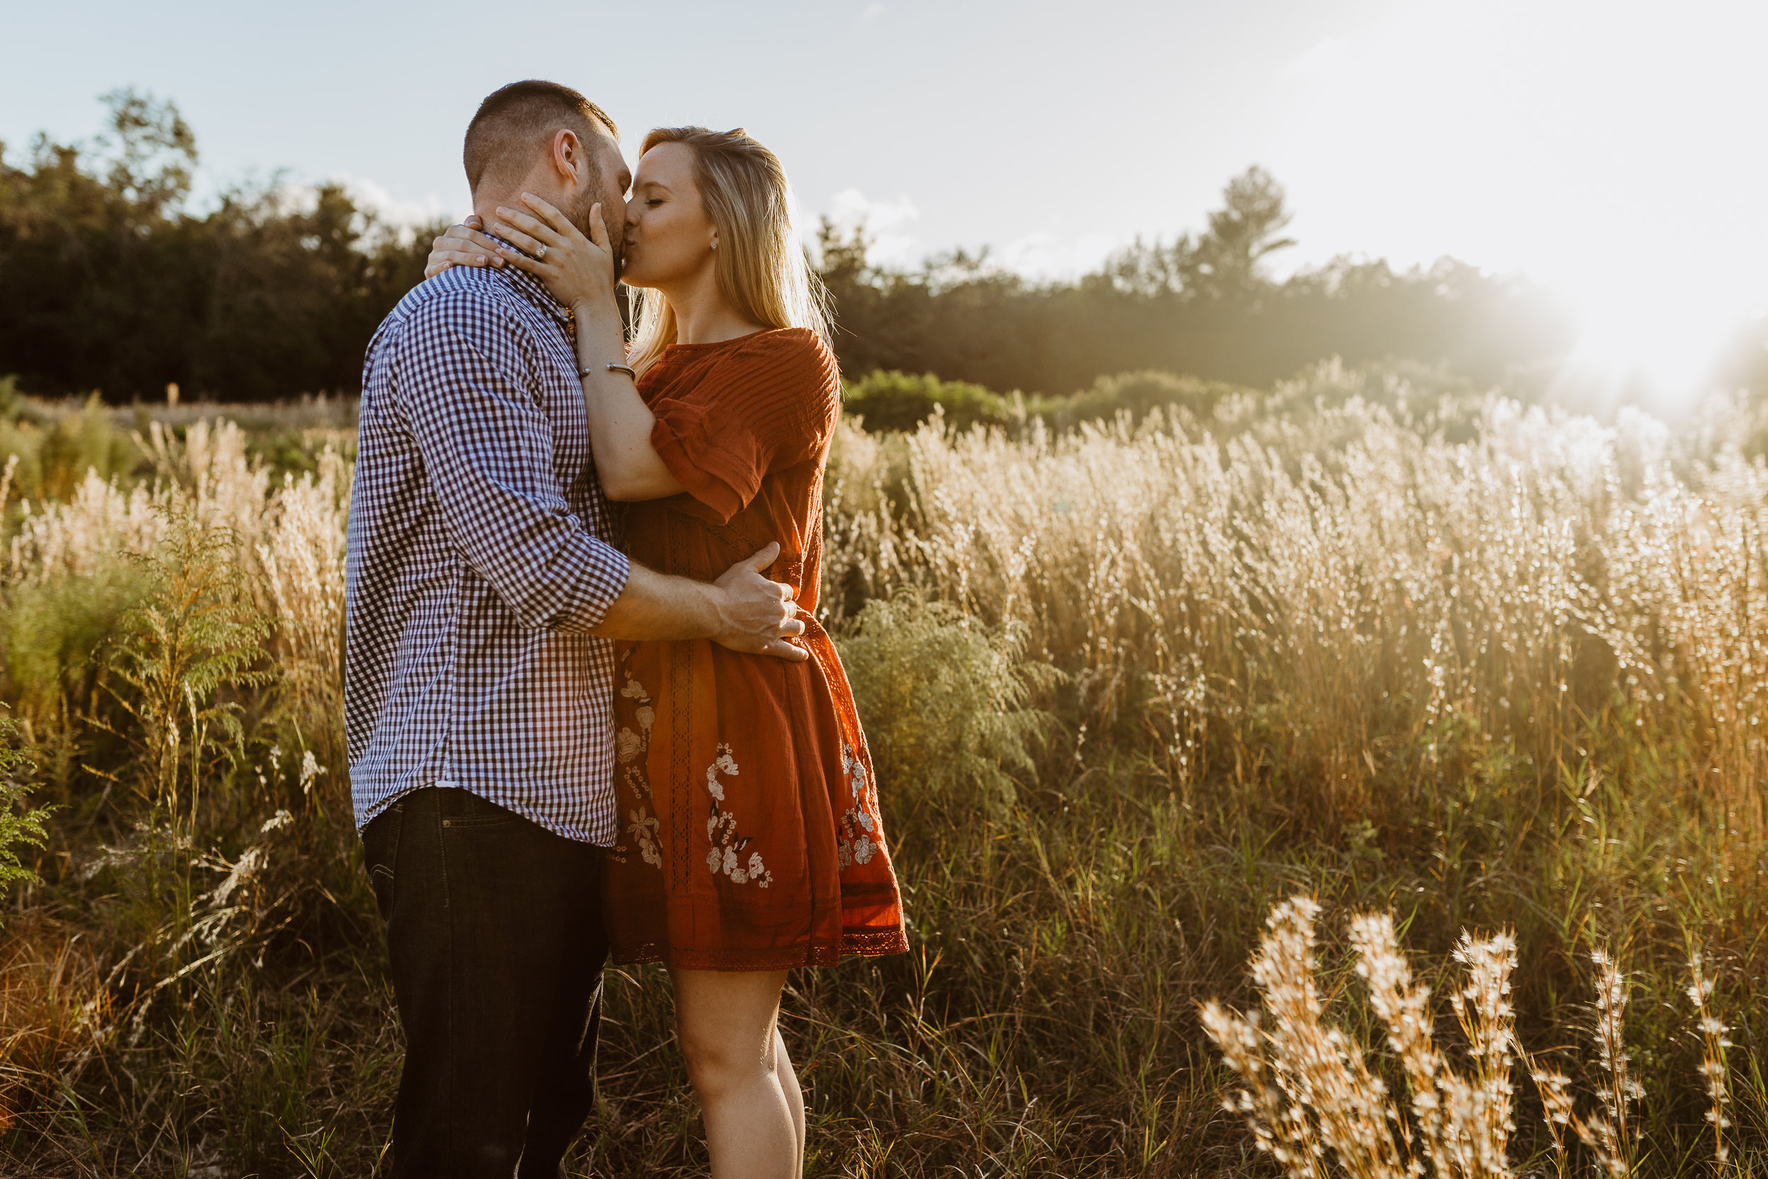
[[[437,787],[362,847],[405,1027],[392,1175],[557,1179],[596,1101],[599,848]]]

